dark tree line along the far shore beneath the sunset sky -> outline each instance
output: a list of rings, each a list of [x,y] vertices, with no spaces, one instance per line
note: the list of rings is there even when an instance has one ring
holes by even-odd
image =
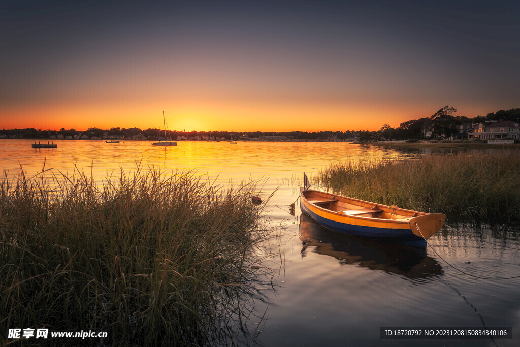
[[[513,121],[520,123],[520,108],[510,110],[500,110],[497,112],[491,112],[487,115],[477,115],[474,118],[468,118],[460,115],[453,115],[457,112],[454,107],[445,106],[435,112],[430,117],[424,117],[420,119],[409,120],[402,122],[398,127],[391,127],[387,124],[381,126],[379,131],[369,130],[347,130],[347,131],[319,131],[319,132],[303,132],[303,131],[289,131],[289,132],[236,132],[236,131],[169,131],[172,138],[178,136],[186,139],[203,139],[215,137],[224,139],[239,139],[245,138],[259,138],[269,136],[283,136],[295,140],[350,140],[359,139],[361,142],[381,139],[418,139],[428,132],[431,137],[434,138],[449,138],[458,134],[457,126],[463,123],[475,123],[486,121]],[[161,132],[162,133],[162,132]],[[88,138],[132,138],[133,136],[141,134],[141,138],[157,138],[159,134],[158,128],[147,128],[141,130],[138,127],[121,128],[112,127],[110,129],[100,129],[98,127],[89,127],[85,131],[77,131],[74,128],[66,129],[61,128],[60,130],[42,130],[35,128],[14,128],[14,129],[2,129],[0,130],[0,137],[3,138],[57,138],[58,135],[74,136],[74,135],[86,135]]]

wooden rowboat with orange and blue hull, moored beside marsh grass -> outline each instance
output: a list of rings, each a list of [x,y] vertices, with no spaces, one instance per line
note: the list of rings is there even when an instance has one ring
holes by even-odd
[[[300,208],[335,232],[386,238],[416,247],[444,225],[446,215],[400,209],[300,187]]]

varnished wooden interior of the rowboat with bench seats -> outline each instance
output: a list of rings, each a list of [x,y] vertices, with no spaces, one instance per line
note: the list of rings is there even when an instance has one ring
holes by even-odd
[[[310,203],[322,209],[347,216],[409,221],[419,215],[414,211],[399,209],[396,205],[380,205],[317,190],[306,190],[303,195]]]

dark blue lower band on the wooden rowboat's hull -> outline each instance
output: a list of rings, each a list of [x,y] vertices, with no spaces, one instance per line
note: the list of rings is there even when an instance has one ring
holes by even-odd
[[[390,229],[378,228],[363,225],[346,224],[336,221],[331,221],[323,218],[316,213],[311,212],[300,202],[302,212],[308,214],[313,220],[323,225],[326,228],[334,230],[335,232],[345,233],[356,236],[374,237],[374,238],[391,238],[393,242],[403,243],[409,246],[426,247],[426,240],[413,234],[412,230],[407,229]]]

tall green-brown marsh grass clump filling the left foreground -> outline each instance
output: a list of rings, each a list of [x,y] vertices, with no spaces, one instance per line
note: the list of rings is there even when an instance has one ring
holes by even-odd
[[[139,168],[102,183],[78,171],[43,177],[0,178],[5,331],[106,331],[107,344],[229,341],[251,247],[266,236],[253,186]]]

